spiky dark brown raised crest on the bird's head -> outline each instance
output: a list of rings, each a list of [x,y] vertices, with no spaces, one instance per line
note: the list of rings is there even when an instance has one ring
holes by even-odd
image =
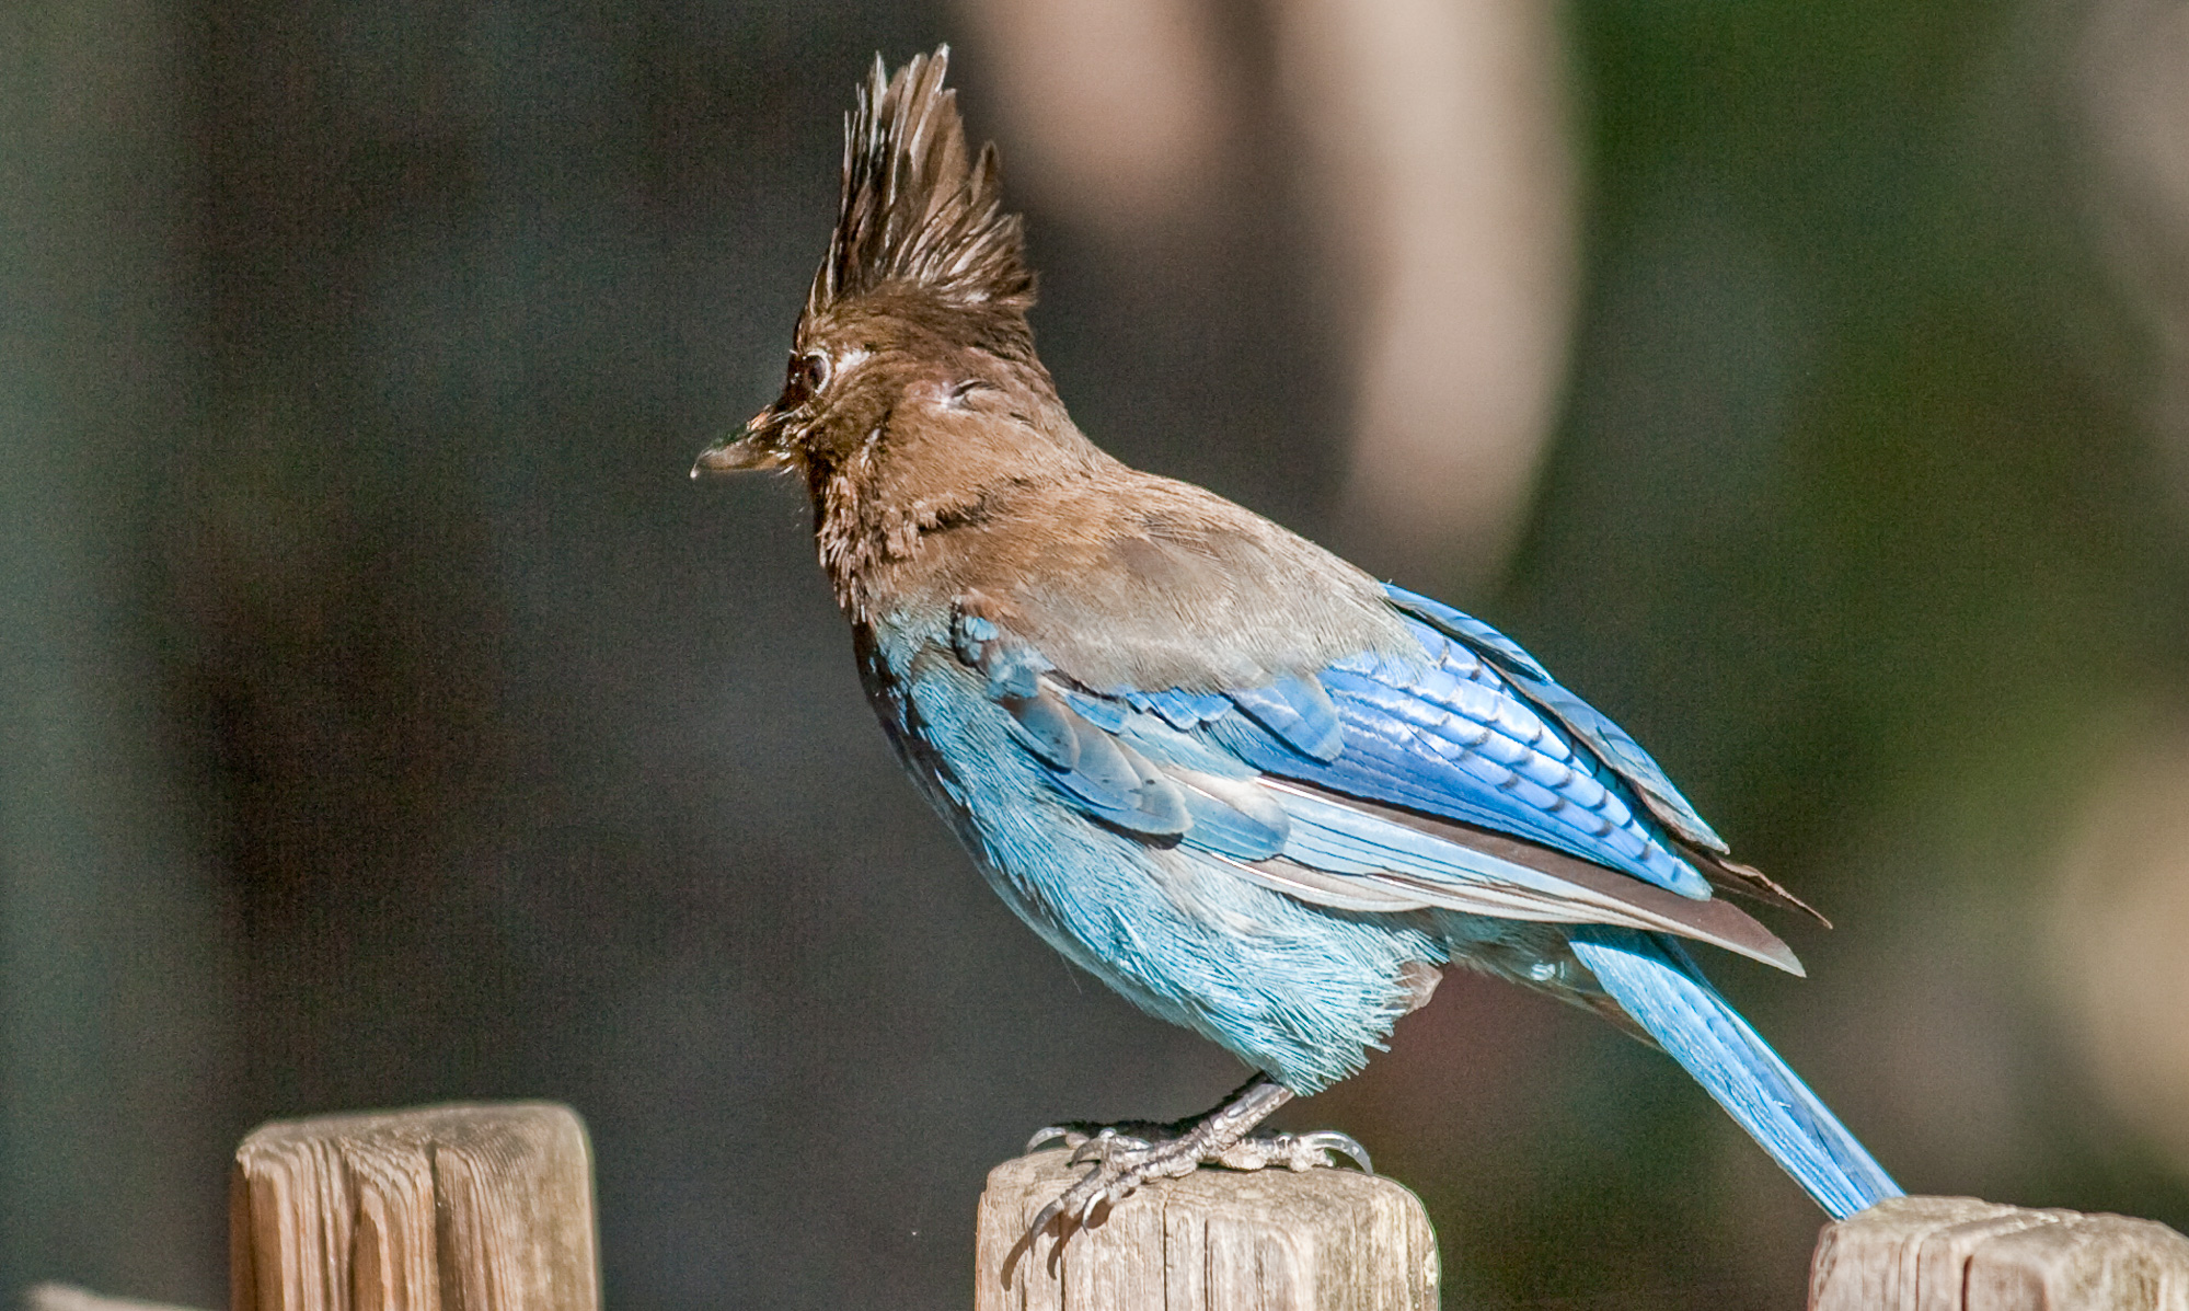
[[[950,46],[889,77],[882,57],[843,123],[843,201],[806,311],[900,282],[957,306],[1024,313],[1033,271],[1018,214],[1003,208],[996,144],[965,149]]]

